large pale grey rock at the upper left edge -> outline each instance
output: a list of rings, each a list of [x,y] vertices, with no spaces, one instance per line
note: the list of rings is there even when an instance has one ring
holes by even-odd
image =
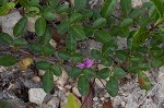
[[[22,15],[19,11],[13,11],[5,16],[0,16],[2,32],[8,33],[10,36],[13,36],[13,27],[21,19]]]

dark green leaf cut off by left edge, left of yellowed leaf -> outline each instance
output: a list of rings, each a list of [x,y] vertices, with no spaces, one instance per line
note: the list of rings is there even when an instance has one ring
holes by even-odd
[[[0,57],[0,65],[11,67],[14,65],[19,60],[13,56],[3,56]]]

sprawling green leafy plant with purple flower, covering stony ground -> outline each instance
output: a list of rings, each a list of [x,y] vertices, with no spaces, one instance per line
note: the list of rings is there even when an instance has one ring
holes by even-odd
[[[110,96],[117,96],[119,80],[126,74],[137,74],[141,88],[149,91],[151,82],[145,71],[164,65],[164,0],[151,0],[142,7],[132,8],[131,0],[120,0],[120,9],[116,9],[116,0],[105,0],[101,9],[86,7],[87,0],[74,0],[61,3],[60,0],[0,0],[0,15],[7,15],[16,4],[23,8],[23,17],[13,27],[13,35],[0,34],[0,39],[19,52],[31,53],[26,57],[1,56],[0,65],[10,67],[20,62],[21,69],[34,63],[38,70],[45,70],[43,88],[49,93],[54,87],[54,76],[60,76],[61,68],[69,65],[68,75],[78,80],[81,95],[87,95],[90,82],[95,79],[107,80],[105,86]],[[121,11],[120,14],[115,15]],[[27,17],[38,15],[35,33],[38,40],[27,41],[23,34]],[[55,25],[55,26],[54,26]],[[65,44],[60,49],[54,48],[49,41],[55,39],[52,31],[65,34]],[[118,49],[116,37],[127,39],[127,48]],[[79,41],[94,39],[102,44],[101,50],[91,49],[91,56],[84,57],[77,50]],[[56,53],[56,55],[55,55]],[[46,58],[56,56],[55,62]],[[52,57],[51,57],[52,58]],[[94,65],[103,64],[98,70]]]

